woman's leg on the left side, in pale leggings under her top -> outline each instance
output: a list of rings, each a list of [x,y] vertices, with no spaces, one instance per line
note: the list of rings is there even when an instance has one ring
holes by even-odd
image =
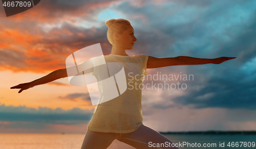
[[[121,134],[117,133],[100,133],[87,130],[81,149],[105,149]]]

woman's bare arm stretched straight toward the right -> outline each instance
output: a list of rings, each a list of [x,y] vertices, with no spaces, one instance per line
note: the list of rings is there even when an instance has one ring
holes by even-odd
[[[158,68],[177,65],[203,65],[203,64],[220,64],[224,61],[234,59],[236,57],[220,57],[216,59],[201,59],[187,56],[178,56],[174,58],[155,58],[148,56],[146,68]]]

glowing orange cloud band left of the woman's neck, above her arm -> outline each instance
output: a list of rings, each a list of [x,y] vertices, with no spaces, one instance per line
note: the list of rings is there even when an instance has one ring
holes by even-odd
[[[58,32],[54,33],[54,31],[55,30],[51,31],[50,34],[52,35],[49,34],[49,36],[52,36],[51,40],[48,38],[42,38],[41,40],[31,41],[31,45],[27,45],[26,47],[26,53],[17,51],[15,48],[3,48],[0,50],[0,69],[9,69],[14,72],[32,71],[38,73],[50,70],[54,71],[66,68],[65,61],[68,55],[80,48],[90,46],[95,43],[101,43],[102,51],[105,53],[105,48],[109,46],[107,39],[104,39],[106,35],[100,31],[76,31],[76,29],[74,29],[72,31],[73,35],[70,35],[69,38],[65,37],[61,31],[58,31],[58,29],[56,29]],[[80,38],[77,36],[78,33],[86,35],[86,37]],[[54,37],[57,34],[59,34],[59,37]],[[62,39],[59,40],[57,38]],[[13,42],[15,43],[15,39],[13,39]],[[90,56],[90,54],[88,55]]]

